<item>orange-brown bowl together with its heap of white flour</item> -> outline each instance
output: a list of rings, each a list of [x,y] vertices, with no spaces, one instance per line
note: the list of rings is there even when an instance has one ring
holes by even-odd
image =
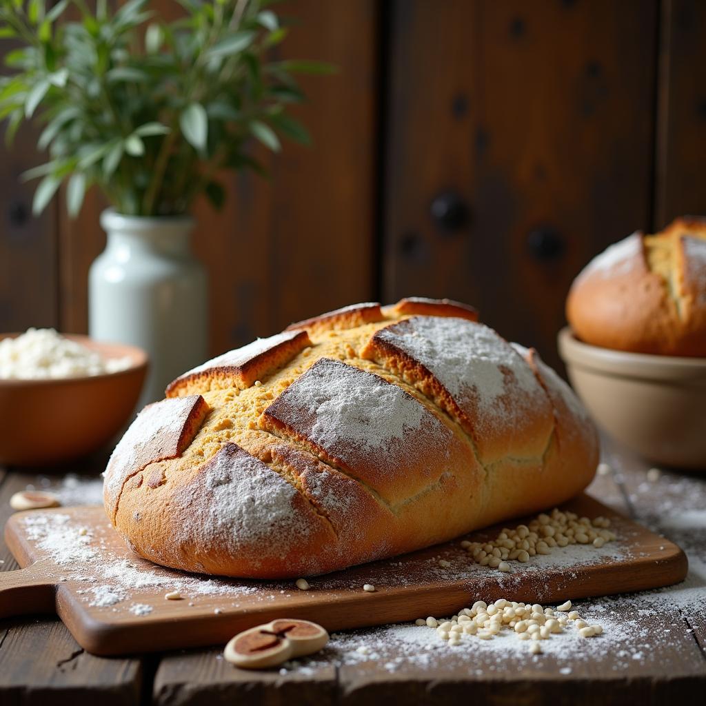
[[[0,463],[47,466],[101,448],[133,414],[142,349],[53,329],[0,334]]]

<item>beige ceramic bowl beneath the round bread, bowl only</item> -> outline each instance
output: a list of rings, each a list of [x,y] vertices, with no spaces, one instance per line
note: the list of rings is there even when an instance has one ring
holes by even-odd
[[[606,432],[654,463],[706,470],[706,358],[628,353],[558,337],[573,388]]]

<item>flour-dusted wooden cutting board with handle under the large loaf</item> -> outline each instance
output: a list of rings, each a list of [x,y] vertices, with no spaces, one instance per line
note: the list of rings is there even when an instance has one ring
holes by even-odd
[[[340,630],[448,616],[479,599],[546,604],[685,578],[686,556],[676,544],[590,496],[562,509],[609,517],[618,541],[603,549],[556,549],[527,564],[512,562],[513,572],[503,574],[475,565],[457,540],[310,578],[308,591],[297,590],[294,581],[208,579],[156,567],[128,549],[100,507],[16,513],[5,536],[24,568],[0,573],[0,618],[56,611],[81,647],[113,655],[226,642],[277,617]],[[495,527],[467,539],[498,532]],[[375,592],[365,592],[366,583]],[[174,589],[184,598],[165,599]]]

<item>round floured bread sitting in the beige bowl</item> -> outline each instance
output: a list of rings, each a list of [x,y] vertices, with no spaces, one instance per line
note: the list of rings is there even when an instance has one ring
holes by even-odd
[[[678,218],[610,246],[576,277],[566,318],[591,345],[706,356],[706,219]]]

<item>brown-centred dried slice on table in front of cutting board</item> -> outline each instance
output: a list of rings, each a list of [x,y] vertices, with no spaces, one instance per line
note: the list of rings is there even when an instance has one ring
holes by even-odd
[[[236,635],[225,646],[225,659],[243,669],[263,669],[292,657],[318,652],[328,642],[328,633],[306,620],[277,618]]]

